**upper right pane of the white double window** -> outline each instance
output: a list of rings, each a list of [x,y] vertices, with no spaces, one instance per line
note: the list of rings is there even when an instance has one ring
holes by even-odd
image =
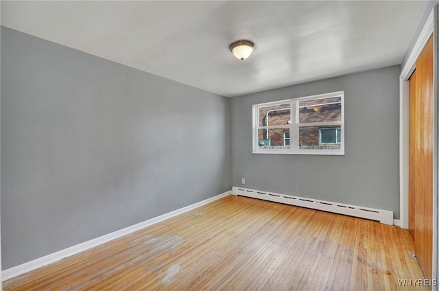
[[[340,121],[342,102],[340,97],[299,102],[299,123]]]

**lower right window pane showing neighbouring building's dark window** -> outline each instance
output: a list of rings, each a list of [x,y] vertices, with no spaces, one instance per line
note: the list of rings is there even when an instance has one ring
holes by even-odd
[[[339,139],[337,132],[340,136],[340,126],[300,126],[299,148],[301,150],[340,150],[340,143],[335,143]]]

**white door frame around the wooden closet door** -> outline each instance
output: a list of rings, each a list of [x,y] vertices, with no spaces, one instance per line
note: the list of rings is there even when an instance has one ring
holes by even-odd
[[[435,5],[423,30],[420,32],[414,48],[410,52],[409,58],[404,67],[401,68],[399,76],[399,226],[408,229],[408,209],[409,209],[409,78],[416,67],[416,60],[425,44],[433,35],[434,44],[434,68],[433,68],[433,270],[434,278],[437,276],[438,266],[438,5]],[[397,222],[397,221],[396,221]],[[437,290],[433,287],[433,290]]]

